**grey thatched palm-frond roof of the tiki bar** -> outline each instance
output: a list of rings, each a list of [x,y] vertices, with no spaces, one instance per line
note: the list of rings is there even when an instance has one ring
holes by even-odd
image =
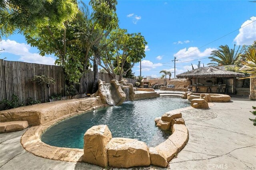
[[[178,78],[205,78],[205,77],[244,77],[243,73],[221,70],[216,67],[200,67],[177,75]]]

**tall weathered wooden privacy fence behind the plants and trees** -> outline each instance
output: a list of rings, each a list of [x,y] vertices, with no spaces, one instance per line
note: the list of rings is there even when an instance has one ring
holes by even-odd
[[[93,71],[88,71],[84,76],[83,91],[92,92]],[[44,65],[36,63],[25,63],[21,61],[6,61],[0,59],[0,101],[3,99],[12,100],[12,95],[18,96],[20,100],[28,103],[29,98],[46,102],[47,87],[46,85],[38,85],[33,83],[31,79],[35,75],[46,75],[54,78],[55,82],[50,85],[50,95],[56,93],[65,95],[65,82],[63,68],[56,65]],[[98,79],[110,83],[111,76],[107,73],[98,73]],[[116,76],[119,79],[119,75]],[[127,79],[128,83],[135,84],[136,80]],[[4,105],[0,105],[0,110],[4,109]]]

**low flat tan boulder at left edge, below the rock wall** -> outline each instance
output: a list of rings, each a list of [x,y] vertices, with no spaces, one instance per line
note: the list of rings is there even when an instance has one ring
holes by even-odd
[[[15,132],[28,127],[28,121],[0,122],[0,133]]]

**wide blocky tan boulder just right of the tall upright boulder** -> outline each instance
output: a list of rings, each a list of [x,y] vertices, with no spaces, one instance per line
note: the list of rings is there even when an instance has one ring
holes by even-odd
[[[150,165],[148,146],[130,138],[112,138],[108,143],[109,166],[129,168]]]

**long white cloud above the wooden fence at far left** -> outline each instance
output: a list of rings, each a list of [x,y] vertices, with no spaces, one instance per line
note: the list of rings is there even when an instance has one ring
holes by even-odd
[[[18,43],[13,40],[2,40],[0,42],[3,53],[11,53],[20,56],[20,61],[28,63],[48,64],[54,65],[55,59],[52,57],[41,56],[38,53],[30,53],[30,45],[25,43]]]

